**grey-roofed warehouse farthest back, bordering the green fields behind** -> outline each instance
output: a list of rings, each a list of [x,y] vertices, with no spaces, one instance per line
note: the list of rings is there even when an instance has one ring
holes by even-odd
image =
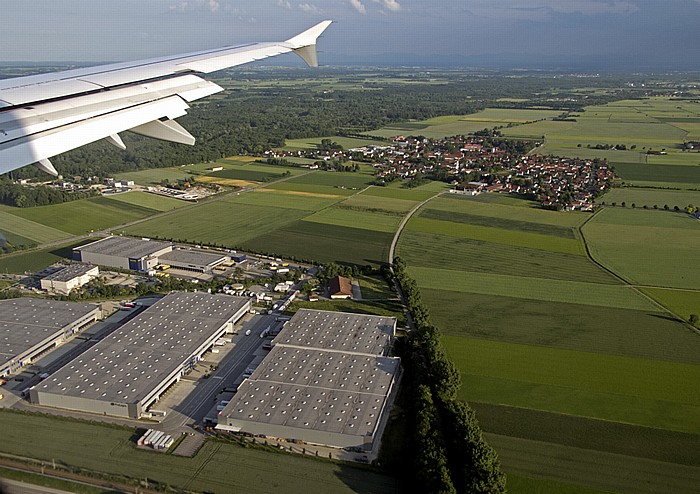
[[[172,250],[172,244],[166,242],[112,236],[76,247],[73,259],[99,266],[148,271],[158,264],[158,256]]]

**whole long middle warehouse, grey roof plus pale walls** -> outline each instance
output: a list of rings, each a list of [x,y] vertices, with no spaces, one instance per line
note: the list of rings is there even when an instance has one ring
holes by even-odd
[[[250,308],[250,300],[171,293],[30,391],[32,403],[138,419]]]

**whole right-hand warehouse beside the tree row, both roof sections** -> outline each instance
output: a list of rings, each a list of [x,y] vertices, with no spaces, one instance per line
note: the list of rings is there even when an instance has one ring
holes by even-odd
[[[372,449],[399,359],[390,317],[302,309],[219,416],[217,429]]]

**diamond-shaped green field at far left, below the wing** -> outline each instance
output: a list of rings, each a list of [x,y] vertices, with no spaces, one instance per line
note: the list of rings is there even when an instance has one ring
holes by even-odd
[[[146,218],[156,212],[106,197],[13,210],[13,214],[21,218],[76,235]]]

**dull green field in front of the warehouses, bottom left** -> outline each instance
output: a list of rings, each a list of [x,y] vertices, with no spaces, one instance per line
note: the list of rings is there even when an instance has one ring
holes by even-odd
[[[207,442],[194,458],[138,450],[132,431],[58,418],[2,412],[0,450],[60,459],[69,465],[123,474],[197,491],[289,490],[309,493],[394,492],[395,481],[367,469],[316,458]],[[51,431],[47,434],[46,431]],[[235,475],[231,466],[236,467]]]

